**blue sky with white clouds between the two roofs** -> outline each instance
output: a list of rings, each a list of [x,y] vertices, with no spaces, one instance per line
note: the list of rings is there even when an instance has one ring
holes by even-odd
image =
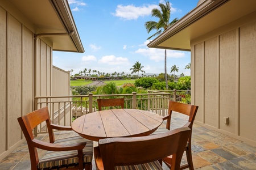
[[[63,70],[92,69],[105,73],[130,74],[130,68],[139,61],[146,73],[164,73],[164,50],[148,48],[144,23],[150,20],[152,8],[160,1],[149,0],[68,0],[79,31],[84,53],[53,52],[53,65]],[[173,0],[171,19],[180,19],[196,7],[197,0]],[[152,37],[153,40],[155,37]],[[167,50],[167,73],[171,67],[179,67],[177,75],[190,75],[185,66],[191,62],[190,52]]]

